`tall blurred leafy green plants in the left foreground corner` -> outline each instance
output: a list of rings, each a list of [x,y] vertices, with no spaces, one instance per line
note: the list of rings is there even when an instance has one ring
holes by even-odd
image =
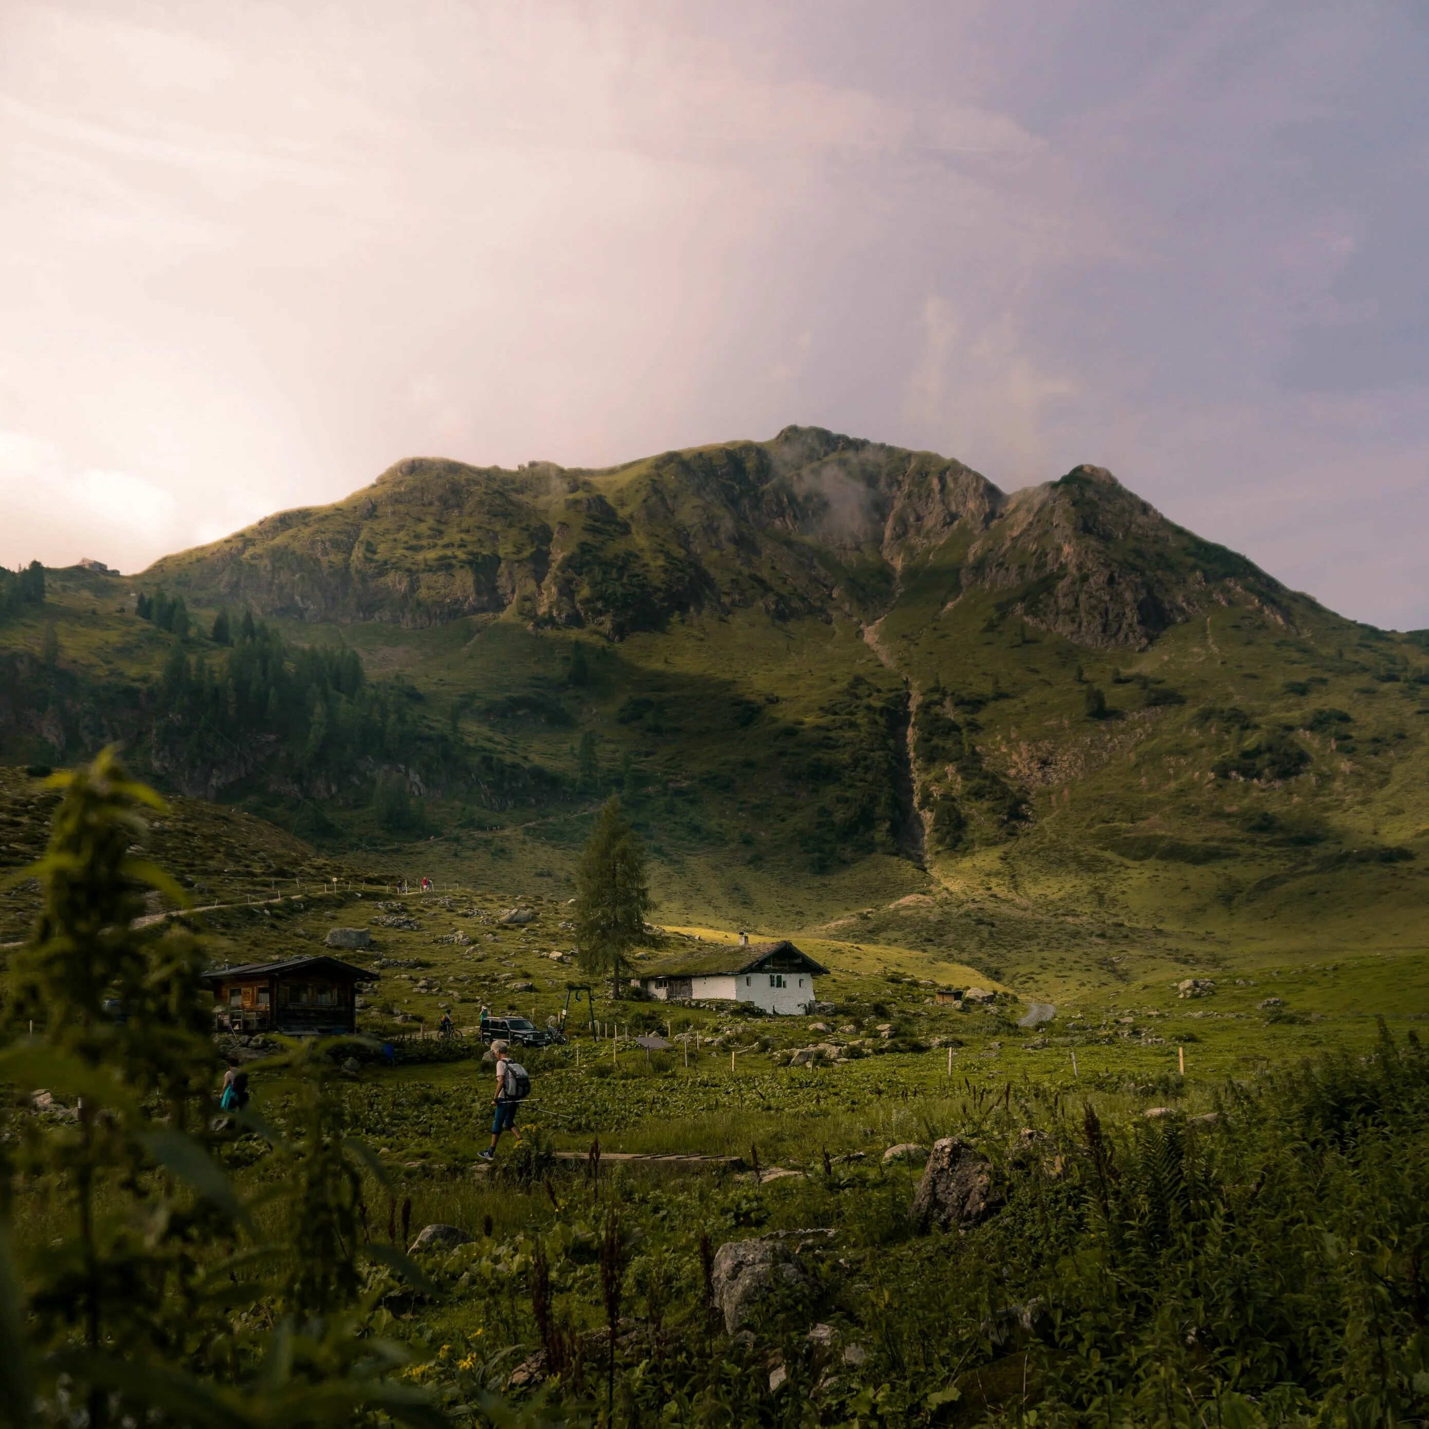
[[[444,1423],[370,1333],[393,1273],[416,1272],[363,1243],[369,1159],[330,1047],[274,1059],[300,1087],[286,1135],[216,1119],[200,940],[136,927],[147,890],[181,897],[140,853],[163,805],[113,752],[53,783],[0,1050],[0,1422]],[[239,1137],[270,1143],[254,1195],[224,1169]]]

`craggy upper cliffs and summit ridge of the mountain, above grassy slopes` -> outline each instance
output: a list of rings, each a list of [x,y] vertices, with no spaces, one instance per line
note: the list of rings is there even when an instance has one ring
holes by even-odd
[[[413,459],[327,507],[284,512],[159,562],[191,600],[303,620],[436,624],[510,613],[620,639],[679,612],[859,619],[956,543],[963,587],[1032,624],[1145,646],[1209,604],[1280,587],[1082,466],[1006,496],[959,462],[816,427],[604,472]]]

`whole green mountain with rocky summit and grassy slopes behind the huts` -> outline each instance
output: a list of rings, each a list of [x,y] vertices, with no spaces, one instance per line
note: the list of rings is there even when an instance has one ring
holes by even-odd
[[[257,626],[161,629],[160,590],[197,632]],[[11,759],[123,737],[409,873],[559,895],[616,789],[670,922],[1047,989],[1426,942],[1429,639],[1089,466],[1006,494],[810,429],[612,470],[409,460],[131,582],[50,573],[0,660]]]

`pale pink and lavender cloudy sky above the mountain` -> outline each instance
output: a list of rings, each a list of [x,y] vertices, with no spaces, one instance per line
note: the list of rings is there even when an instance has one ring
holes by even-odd
[[[1079,462],[1429,626],[1429,6],[0,6],[0,563],[404,456]]]

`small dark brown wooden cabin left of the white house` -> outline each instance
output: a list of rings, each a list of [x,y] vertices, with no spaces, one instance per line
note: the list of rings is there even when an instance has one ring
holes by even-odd
[[[224,1032],[326,1035],[357,1030],[357,983],[376,973],[339,957],[289,957],[277,963],[214,967],[214,1023]]]

